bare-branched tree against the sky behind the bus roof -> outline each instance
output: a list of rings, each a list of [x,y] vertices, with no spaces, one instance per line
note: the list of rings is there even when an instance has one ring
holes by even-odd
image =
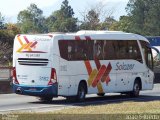
[[[116,20],[112,17],[113,11],[106,8],[105,4],[99,2],[82,12],[83,20],[81,21],[80,29],[109,30]]]

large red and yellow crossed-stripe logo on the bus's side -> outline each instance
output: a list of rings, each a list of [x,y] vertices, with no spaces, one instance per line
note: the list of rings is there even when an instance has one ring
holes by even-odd
[[[95,58],[95,64],[97,69],[92,69],[90,62],[85,61],[85,66],[89,75],[88,85],[92,87],[97,86],[98,92],[104,93],[101,83],[106,82],[106,84],[108,85],[108,83],[110,82],[111,79],[109,77],[109,73],[112,70],[112,66],[110,62],[107,67],[105,65],[101,65],[100,61],[97,58]]]

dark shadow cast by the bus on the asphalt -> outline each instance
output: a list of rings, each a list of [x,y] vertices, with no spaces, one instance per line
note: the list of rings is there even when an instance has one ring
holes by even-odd
[[[150,101],[159,101],[160,96],[149,96],[149,95],[140,95],[138,98],[131,98],[127,95],[112,95],[112,96],[104,96],[104,97],[88,97],[85,102],[76,102],[76,101],[66,101],[66,99],[62,100],[54,100],[51,102],[30,102],[32,104],[50,104],[50,105],[72,105],[72,106],[89,106],[89,105],[101,105],[101,104],[115,104],[122,102],[150,102]]]

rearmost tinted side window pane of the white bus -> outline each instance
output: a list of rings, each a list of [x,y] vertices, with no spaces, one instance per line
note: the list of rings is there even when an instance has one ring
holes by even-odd
[[[94,41],[60,40],[60,55],[66,60],[90,60],[93,59]]]

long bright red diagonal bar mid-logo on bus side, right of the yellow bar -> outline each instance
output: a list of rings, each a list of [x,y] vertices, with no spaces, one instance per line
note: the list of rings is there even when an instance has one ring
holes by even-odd
[[[92,82],[92,86],[93,87],[96,87],[98,82],[101,80],[102,76],[104,75],[105,71],[106,71],[106,66],[105,65],[102,65],[101,68],[99,69],[98,71],[98,74],[96,76],[96,78],[93,80]]]

